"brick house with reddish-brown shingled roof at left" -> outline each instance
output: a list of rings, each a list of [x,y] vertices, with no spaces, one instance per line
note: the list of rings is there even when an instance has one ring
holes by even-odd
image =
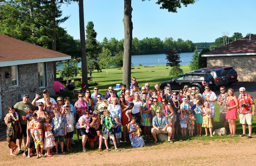
[[[0,34],[0,119],[8,107],[29,94],[48,89],[54,94],[53,62],[71,56]]]

